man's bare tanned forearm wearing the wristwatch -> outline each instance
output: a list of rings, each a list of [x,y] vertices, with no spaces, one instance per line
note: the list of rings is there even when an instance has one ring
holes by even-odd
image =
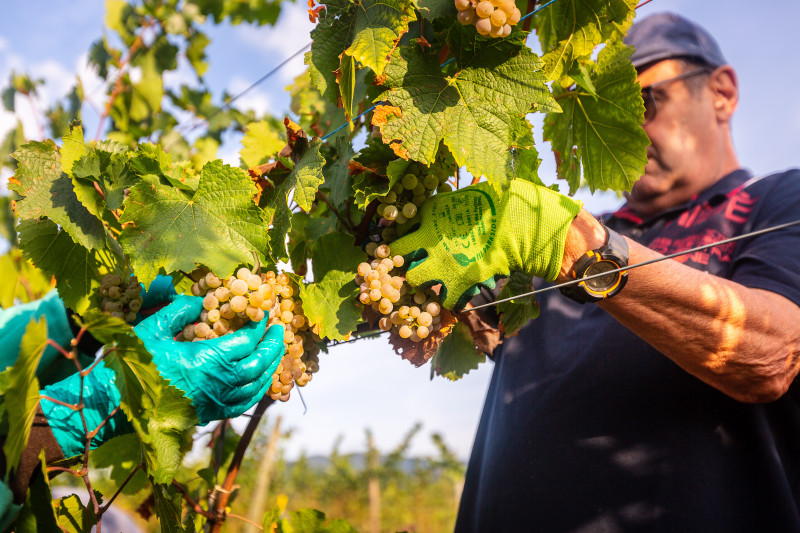
[[[573,255],[596,235],[591,222],[581,224],[573,246],[568,241]],[[630,239],[628,245],[631,265],[661,257]],[[779,398],[800,370],[800,307],[675,260],[631,270],[625,289],[598,305],[681,368],[740,401]]]

